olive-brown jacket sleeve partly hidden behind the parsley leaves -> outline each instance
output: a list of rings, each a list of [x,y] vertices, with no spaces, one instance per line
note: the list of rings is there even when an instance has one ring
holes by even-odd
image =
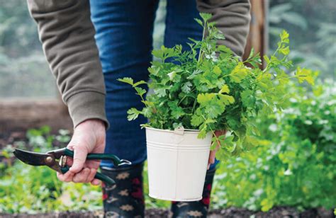
[[[224,33],[226,45],[238,56],[242,57],[250,29],[249,0],[196,0],[198,11],[211,13],[211,22]]]

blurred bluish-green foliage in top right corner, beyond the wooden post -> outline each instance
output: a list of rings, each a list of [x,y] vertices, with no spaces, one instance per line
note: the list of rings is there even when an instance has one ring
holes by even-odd
[[[336,4],[334,0],[271,0],[269,45],[285,29],[291,35],[294,64],[318,69],[321,78],[336,76]],[[271,52],[271,51],[270,51]]]

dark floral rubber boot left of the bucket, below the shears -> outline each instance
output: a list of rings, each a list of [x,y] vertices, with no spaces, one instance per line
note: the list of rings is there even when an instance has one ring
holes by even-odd
[[[101,168],[101,172],[116,181],[103,189],[104,217],[144,217],[145,200],[142,192],[143,164],[125,168]]]

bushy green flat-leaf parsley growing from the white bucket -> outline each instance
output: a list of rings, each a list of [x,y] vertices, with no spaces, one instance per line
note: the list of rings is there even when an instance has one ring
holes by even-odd
[[[197,129],[201,131],[200,138],[208,132],[215,136],[215,130],[228,130],[230,136],[225,140],[214,137],[213,145],[217,140],[221,142],[220,156],[239,154],[257,143],[254,136],[259,132],[253,124],[257,114],[283,108],[289,79],[313,84],[315,72],[298,68],[292,76],[286,74],[285,69],[292,67],[287,58],[289,34],[286,31],[280,35],[276,52],[264,57],[267,67],[262,70],[258,67],[259,54],[254,55],[252,51],[242,62],[228,47],[217,45],[217,40],[224,39],[223,33],[208,22],[211,15],[201,13],[201,17],[203,21],[196,21],[207,36],[201,41],[189,39],[189,51],[183,51],[181,45],[152,51],[159,61],[153,61],[148,69],[150,84],[135,83],[131,78],[118,79],[133,86],[145,104],[142,110],[128,110],[128,120],[144,115],[150,120],[146,126]],[[154,94],[145,98],[146,91],[140,84],[147,84]]]

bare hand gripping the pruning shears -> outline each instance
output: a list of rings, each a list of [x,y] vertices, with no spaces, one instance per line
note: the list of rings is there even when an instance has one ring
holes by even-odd
[[[105,125],[98,119],[85,120],[74,129],[74,134],[67,148],[74,151],[74,158],[67,159],[71,166],[67,173],[57,172],[57,178],[63,182],[91,183],[99,185],[100,180],[95,179],[99,160],[86,161],[88,153],[103,153],[105,149]]]

